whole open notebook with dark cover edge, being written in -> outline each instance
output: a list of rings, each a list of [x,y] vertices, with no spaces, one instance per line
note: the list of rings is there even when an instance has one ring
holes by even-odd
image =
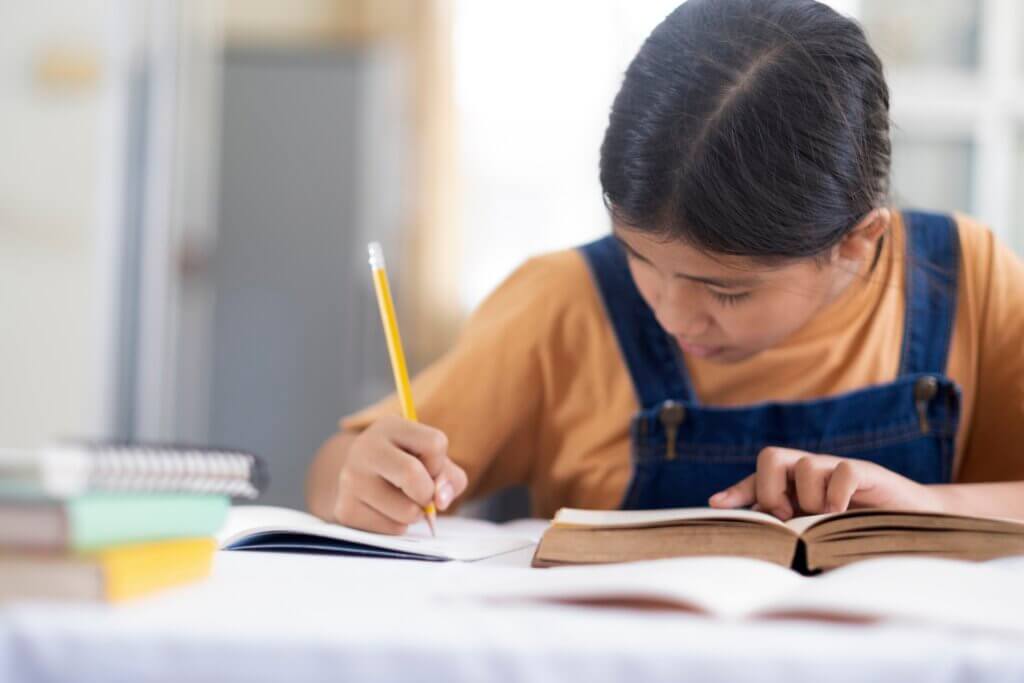
[[[246,505],[231,509],[217,541],[223,550],[468,562],[528,548],[538,536],[536,523],[495,524],[459,517],[439,518],[436,538],[423,522],[410,526],[404,536],[386,536],[329,524],[298,510]]]

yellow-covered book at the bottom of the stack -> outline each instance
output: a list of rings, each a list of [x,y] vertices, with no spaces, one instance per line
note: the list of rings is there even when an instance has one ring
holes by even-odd
[[[120,601],[210,573],[213,539],[175,539],[84,553],[0,554],[0,601]]]

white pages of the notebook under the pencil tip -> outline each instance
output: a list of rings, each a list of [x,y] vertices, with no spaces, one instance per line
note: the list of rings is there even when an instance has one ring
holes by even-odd
[[[437,538],[431,538],[425,523],[414,524],[404,536],[388,536],[329,524],[298,510],[249,505],[231,509],[217,542],[222,549],[241,548],[246,545],[247,539],[260,533],[304,533],[423,557],[463,561],[494,557],[534,545],[529,539],[502,533],[498,524],[473,524],[479,520],[457,518],[440,518],[437,521]],[[480,524],[487,525],[488,532],[484,532]],[[467,532],[470,525],[475,529],[473,532]]]

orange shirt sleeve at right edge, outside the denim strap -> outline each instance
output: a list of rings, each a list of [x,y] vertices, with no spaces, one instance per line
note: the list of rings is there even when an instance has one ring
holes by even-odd
[[[973,241],[978,384],[959,480],[1024,479],[1024,263],[987,229]]]

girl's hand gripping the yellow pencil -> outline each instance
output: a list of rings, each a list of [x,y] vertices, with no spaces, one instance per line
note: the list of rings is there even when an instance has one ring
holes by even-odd
[[[440,511],[466,489],[444,432],[387,416],[355,436],[338,473],[334,516],[346,526],[404,533],[434,502]]]

